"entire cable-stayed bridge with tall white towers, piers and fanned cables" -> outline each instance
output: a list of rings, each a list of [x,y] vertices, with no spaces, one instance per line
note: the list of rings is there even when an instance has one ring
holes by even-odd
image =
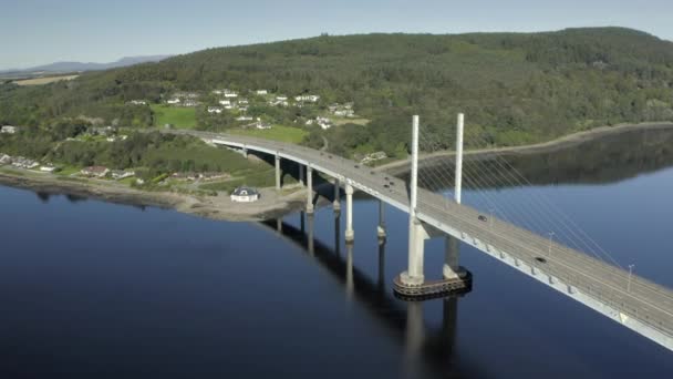
[[[469,288],[472,276],[458,265],[458,242],[463,242],[673,350],[673,291],[636,276],[631,265],[629,269],[621,267],[551,202],[532,195],[528,205],[515,209],[525,216],[519,218],[505,212],[508,204],[497,202],[485,190],[478,192],[487,212],[462,204],[464,180],[476,188],[485,188],[493,181],[491,174],[509,181],[510,185],[526,185],[516,168],[497,155],[495,163],[482,172],[477,172],[474,162],[463,162],[464,140],[476,143],[474,135],[464,135],[462,115],[456,129],[456,154],[447,158],[452,164],[435,164],[423,170],[422,175],[418,174],[418,146],[427,151],[438,143],[432,135],[420,133],[418,119],[414,117],[408,181],[328,152],[282,142],[199,131],[166,133],[193,135],[244,153],[255,151],[273,156],[277,190],[281,186],[280,161],[297,163],[300,180],[308,190],[308,213],[313,212],[313,172],[332,177],[335,211],[341,208],[341,187],[345,192],[346,242],[354,240],[352,196],[355,190],[380,201],[380,237],[385,235],[383,203],[408,213],[408,267],[394,283],[395,291],[402,296],[434,296]],[[451,194],[424,188],[445,188],[448,182],[454,184]],[[424,242],[433,237],[446,239],[442,280],[425,279]]]

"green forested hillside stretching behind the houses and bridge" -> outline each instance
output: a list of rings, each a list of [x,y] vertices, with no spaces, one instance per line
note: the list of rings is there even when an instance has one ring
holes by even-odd
[[[620,28],[546,33],[321,35],[219,48],[159,63],[87,73],[44,86],[0,86],[0,123],[49,126],[63,117],[153,124],[148,106],[174,91],[267,89],[315,93],[319,106],[353,102],[365,126],[308,127],[307,143],[396,154],[410,115],[447,146],[455,113],[496,144],[551,139],[618,122],[673,120],[673,43]],[[279,115],[291,122],[302,110]],[[200,114],[200,113],[199,113]],[[197,127],[227,129],[198,117]],[[301,126],[299,126],[301,125]],[[364,146],[364,147],[363,147]]]

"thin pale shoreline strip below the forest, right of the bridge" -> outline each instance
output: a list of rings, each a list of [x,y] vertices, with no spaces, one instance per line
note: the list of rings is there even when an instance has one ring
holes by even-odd
[[[673,129],[672,122],[645,122],[639,124],[617,124],[613,126],[599,126],[588,131],[577,132],[568,135],[560,136],[558,139],[535,143],[530,145],[519,145],[519,146],[505,146],[505,147],[489,147],[489,148],[478,148],[478,150],[469,150],[465,151],[465,156],[478,157],[479,155],[486,154],[535,154],[535,153],[547,153],[553,152],[557,150],[576,146],[583,142],[599,140],[604,136],[638,131],[638,130],[665,130]],[[418,162],[433,160],[438,157],[448,157],[454,156],[455,152],[453,151],[439,151],[429,154],[418,154]],[[408,170],[401,170],[402,167],[406,168],[411,163],[411,157],[405,160],[400,160],[395,162],[390,162],[386,164],[382,164],[380,166],[373,167],[375,171],[386,171],[391,170],[391,174],[403,173]]]

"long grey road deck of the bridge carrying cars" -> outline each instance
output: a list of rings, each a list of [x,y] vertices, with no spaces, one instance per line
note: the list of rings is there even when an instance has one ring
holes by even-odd
[[[342,183],[349,182],[354,187],[408,212],[410,194],[406,183],[336,155],[252,137],[196,131],[172,131],[172,133],[189,134],[215,140],[217,143],[229,146],[279,154],[283,158],[307,164],[313,170],[338,177]],[[390,187],[386,188],[384,184],[390,182],[394,184],[389,184]],[[565,291],[566,295],[573,297],[573,294],[582,294],[597,300],[609,310],[597,309],[587,301],[578,299],[618,321],[621,319],[623,325],[673,349],[673,291],[671,289],[636,275],[631,277],[631,286],[628,289],[629,273],[621,268],[556,242],[551,242],[551,254],[549,254],[548,238],[495,217],[490,217],[488,222],[482,222],[478,219],[477,209],[447,202],[442,195],[423,188],[418,188],[416,211],[421,221],[487,254],[495,256],[494,252],[498,252],[503,258],[508,256],[515,263],[514,265],[529,267],[531,270],[528,273],[529,275],[546,276],[549,285],[562,283],[568,287]],[[537,257],[542,257],[546,262],[541,263],[536,259]],[[617,314],[612,315],[611,313],[614,310]],[[635,319],[645,328],[651,328],[662,336],[653,338],[651,330],[643,332],[640,330],[642,329],[640,325],[629,324],[628,319]]]

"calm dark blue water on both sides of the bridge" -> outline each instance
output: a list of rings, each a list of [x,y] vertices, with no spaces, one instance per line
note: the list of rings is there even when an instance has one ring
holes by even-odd
[[[620,263],[673,287],[672,188],[660,167],[493,194],[543,193]],[[386,208],[381,248],[376,209],[356,202],[349,249],[330,208],[290,215],[279,234],[0,187],[0,377],[673,377],[673,354],[467,246],[472,293],[395,299],[407,216]],[[441,276],[443,254],[427,243],[426,276]]]

